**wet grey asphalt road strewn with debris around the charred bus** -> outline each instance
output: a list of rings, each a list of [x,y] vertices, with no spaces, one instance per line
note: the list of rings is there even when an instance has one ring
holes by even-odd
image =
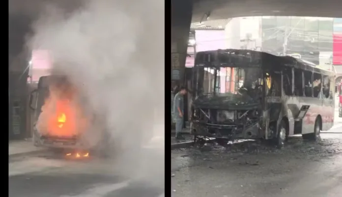
[[[256,142],[172,151],[172,197],[341,197],[342,125],[278,150]]]

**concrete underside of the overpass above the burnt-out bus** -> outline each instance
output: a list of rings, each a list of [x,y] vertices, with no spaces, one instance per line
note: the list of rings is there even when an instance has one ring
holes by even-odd
[[[341,0],[194,0],[192,23],[247,16],[342,18]]]

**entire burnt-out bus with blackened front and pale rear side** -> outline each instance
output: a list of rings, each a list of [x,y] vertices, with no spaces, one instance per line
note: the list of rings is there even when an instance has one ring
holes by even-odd
[[[317,140],[334,123],[334,73],[290,56],[225,49],[198,52],[192,91],[192,133],[264,138],[282,147],[288,136]]]

